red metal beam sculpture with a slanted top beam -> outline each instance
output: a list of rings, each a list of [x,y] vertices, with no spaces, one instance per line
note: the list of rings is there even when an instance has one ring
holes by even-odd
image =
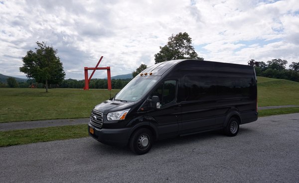
[[[84,90],[89,90],[89,82],[93,76],[93,74],[96,72],[96,70],[107,70],[107,82],[108,82],[108,90],[111,91],[111,74],[110,74],[110,67],[98,67],[101,60],[103,59],[103,56],[100,58],[98,64],[96,67],[84,67],[84,75],[85,75],[85,87]],[[88,70],[93,70],[90,77],[88,78]]]

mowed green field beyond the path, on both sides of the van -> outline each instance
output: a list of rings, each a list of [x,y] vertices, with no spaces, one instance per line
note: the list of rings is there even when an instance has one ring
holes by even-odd
[[[299,105],[299,83],[257,80],[259,106]],[[119,91],[112,90],[111,96]],[[85,118],[96,104],[109,98],[107,89],[50,89],[46,93],[44,89],[0,88],[0,122]]]

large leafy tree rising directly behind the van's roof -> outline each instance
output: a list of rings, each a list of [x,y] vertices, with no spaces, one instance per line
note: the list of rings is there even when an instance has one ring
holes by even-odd
[[[186,32],[180,32],[176,35],[172,34],[168,38],[167,44],[163,47],[160,46],[160,51],[154,54],[155,64],[177,59],[203,60],[203,58],[198,56],[191,44],[192,40]]]

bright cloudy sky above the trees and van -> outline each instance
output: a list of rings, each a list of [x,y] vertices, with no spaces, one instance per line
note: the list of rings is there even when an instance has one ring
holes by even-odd
[[[179,32],[204,60],[299,62],[298,0],[0,0],[0,74],[26,78],[37,41],[57,49],[65,79],[83,80],[101,56],[112,76],[129,74]]]

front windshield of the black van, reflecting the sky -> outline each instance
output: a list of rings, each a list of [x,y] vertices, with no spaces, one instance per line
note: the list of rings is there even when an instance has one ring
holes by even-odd
[[[160,79],[160,76],[134,78],[116,96],[115,100],[137,101]]]

